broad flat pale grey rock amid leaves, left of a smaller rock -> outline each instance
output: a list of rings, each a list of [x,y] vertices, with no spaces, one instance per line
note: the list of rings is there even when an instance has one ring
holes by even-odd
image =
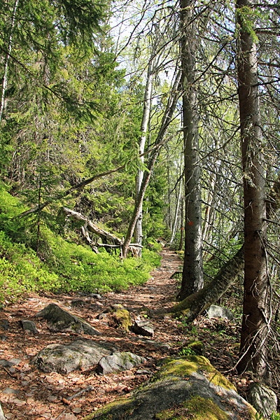
[[[69,344],[49,344],[32,360],[43,372],[66,373],[80,367],[88,369],[97,365],[103,356],[109,356],[116,348],[99,344],[91,339],[77,339]]]

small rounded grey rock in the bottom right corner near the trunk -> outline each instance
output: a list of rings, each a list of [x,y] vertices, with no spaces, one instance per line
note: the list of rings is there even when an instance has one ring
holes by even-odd
[[[249,389],[248,401],[258,413],[269,418],[277,411],[277,397],[272,389],[263,384],[253,384]]]

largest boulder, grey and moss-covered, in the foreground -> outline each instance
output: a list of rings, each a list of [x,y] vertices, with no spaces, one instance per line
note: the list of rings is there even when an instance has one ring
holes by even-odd
[[[202,372],[205,372],[203,374]],[[85,420],[255,419],[255,409],[207,358],[166,358],[148,384]]]

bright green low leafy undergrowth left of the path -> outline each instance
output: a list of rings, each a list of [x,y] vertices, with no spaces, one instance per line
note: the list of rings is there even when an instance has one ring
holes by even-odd
[[[15,301],[23,292],[51,290],[85,293],[123,290],[145,283],[160,255],[143,250],[142,258],[120,261],[102,250],[66,241],[41,223],[44,258],[38,258],[36,224],[17,218],[25,208],[0,185],[0,304]],[[33,231],[32,231],[33,226]],[[34,239],[35,238],[35,239]],[[23,243],[25,239],[26,243]]]

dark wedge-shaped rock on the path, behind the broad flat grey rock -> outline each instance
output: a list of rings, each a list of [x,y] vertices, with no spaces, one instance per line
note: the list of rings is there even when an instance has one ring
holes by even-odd
[[[80,334],[85,332],[88,335],[100,335],[100,332],[93,328],[90,324],[78,318],[76,315],[70,314],[55,303],[48,304],[36,314],[38,318],[44,318],[48,321],[48,326],[52,331],[73,331]]]

